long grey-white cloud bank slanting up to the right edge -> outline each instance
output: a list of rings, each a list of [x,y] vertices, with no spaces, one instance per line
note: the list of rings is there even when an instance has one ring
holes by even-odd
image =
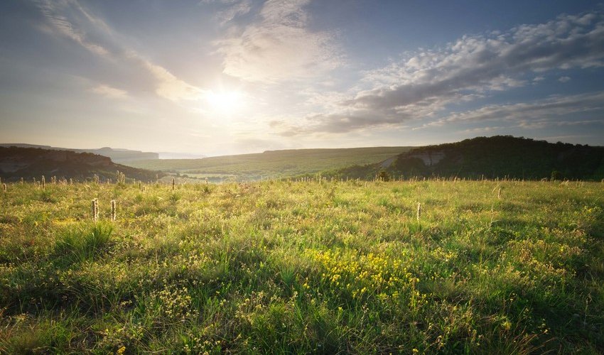
[[[544,78],[541,73],[550,70],[602,66],[603,13],[561,15],[506,32],[464,35],[444,48],[419,50],[365,72],[362,82],[371,89],[342,100],[336,112],[308,116],[303,124],[281,133],[345,133],[412,119],[438,120],[453,104],[538,83]],[[498,117],[504,114],[500,111]]]

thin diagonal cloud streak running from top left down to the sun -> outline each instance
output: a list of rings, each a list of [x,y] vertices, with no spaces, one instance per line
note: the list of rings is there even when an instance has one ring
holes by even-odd
[[[188,84],[166,68],[128,48],[118,40],[119,35],[102,18],[84,9],[77,1],[41,0],[38,2],[38,7],[48,20],[45,31],[70,38],[100,58],[119,66],[130,67],[131,72],[138,72],[141,69],[146,71],[152,78],[154,90],[159,97],[179,102],[199,99],[203,94],[203,89]],[[105,96],[113,94],[116,97],[117,92],[109,89],[113,88],[104,87],[96,92]]]

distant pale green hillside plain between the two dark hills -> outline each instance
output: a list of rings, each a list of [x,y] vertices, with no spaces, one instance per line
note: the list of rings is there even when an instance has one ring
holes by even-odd
[[[162,170],[197,178],[210,176],[215,181],[261,180],[378,163],[411,148],[413,147],[297,149],[203,159],[141,160],[128,164],[135,168]],[[220,175],[225,176],[221,178]]]

